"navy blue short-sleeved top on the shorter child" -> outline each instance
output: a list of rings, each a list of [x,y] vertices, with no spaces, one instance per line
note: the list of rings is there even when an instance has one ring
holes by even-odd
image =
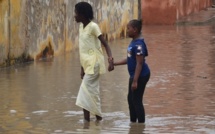
[[[142,55],[144,58],[144,63],[142,67],[142,71],[139,77],[144,77],[150,73],[150,69],[145,62],[145,57],[148,56],[148,50],[144,39],[135,39],[132,40],[130,45],[128,46],[128,56],[127,56],[127,65],[128,72],[131,78],[134,77],[135,69],[136,69],[136,55]]]

